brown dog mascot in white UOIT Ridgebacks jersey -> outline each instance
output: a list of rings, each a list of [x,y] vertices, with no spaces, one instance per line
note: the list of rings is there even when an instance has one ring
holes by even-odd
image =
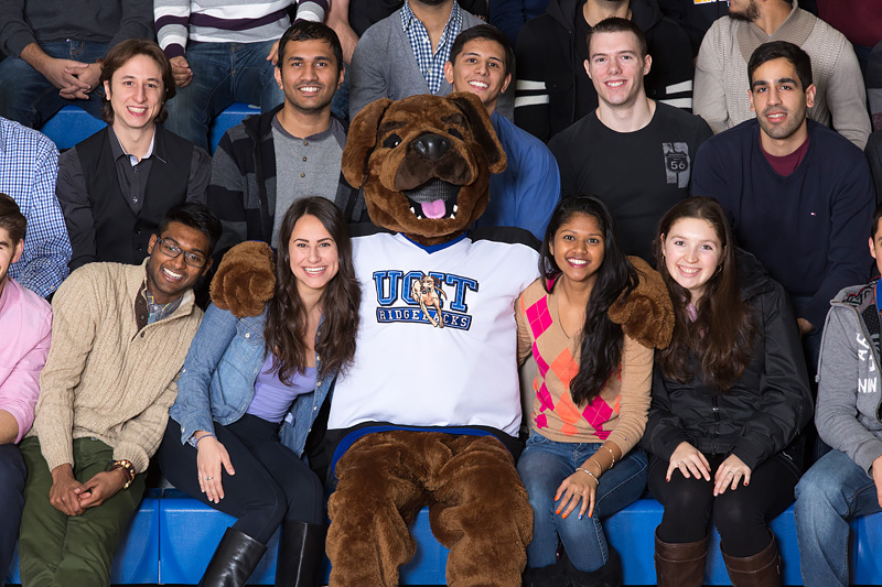
[[[465,235],[503,170],[472,94],[380,99],[349,126],[343,173],[395,233],[353,239],[362,312],[329,416],[329,437],[343,438],[335,456],[345,448],[329,501],[331,586],[398,585],[423,506],[450,548],[449,585],[520,585],[533,511],[512,453],[514,303],[538,276],[538,253],[519,229]]]

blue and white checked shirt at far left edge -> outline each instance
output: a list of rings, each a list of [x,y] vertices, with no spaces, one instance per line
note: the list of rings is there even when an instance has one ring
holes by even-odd
[[[0,192],[12,196],[28,219],[24,252],[10,276],[43,297],[67,276],[71,241],[55,178],[58,150],[45,135],[0,117]]]

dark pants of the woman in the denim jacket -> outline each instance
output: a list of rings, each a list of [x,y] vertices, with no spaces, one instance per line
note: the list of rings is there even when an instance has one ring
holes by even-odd
[[[324,524],[324,493],[319,477],[279,442],[279,425],[245,414],[215,434],[229,453],[236,475],[222,468],[224,499],[212,503],[200,490],[196,448],[181,444],[181,426],[169,420],[159,448],[162,474],[184,493],[236,517],[236,530],[266,544],[282,520]]]

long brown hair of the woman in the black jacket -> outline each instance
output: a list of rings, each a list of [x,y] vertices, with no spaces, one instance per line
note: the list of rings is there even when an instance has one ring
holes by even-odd
[[[724,247],[720,269],[704,286],[692,322],[687,313],[689,292],[670,276],[662,244],[677,220],[707,220]],[[741,379],[751,361],[751,343],[756,335],[751,308],[741,298],[735,247],[732,230],[720,204],[709,197],[687,198],[670,208],[658,225],[654,243],[656,265],[674,303],[674,337],[668,348],[656,352],[656,365],[670,380],[685,383],[696,376],[723,391]],[[695,357],[698,373],[691,372],[689,359]]]

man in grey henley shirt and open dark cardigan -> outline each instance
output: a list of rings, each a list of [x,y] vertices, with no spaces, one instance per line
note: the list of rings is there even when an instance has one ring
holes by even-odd
[[[359,219],[364,206],[340,172],[348,129],[331,113],[342,80],[333,30],[298,21],[286,31],[276,66],[284,101],[229,129],[212,159],[207,200],[224,225],[220,251],[244,240],[278,244],[284,211],[308,196],[323,196]]]

